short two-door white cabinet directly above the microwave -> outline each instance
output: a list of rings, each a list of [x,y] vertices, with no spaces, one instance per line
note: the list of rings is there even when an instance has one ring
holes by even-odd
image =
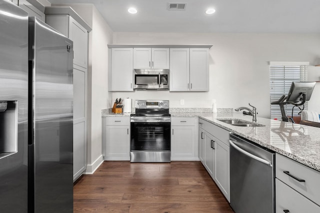
[[[134,69],[169,69],[169,48],[133,48]]]

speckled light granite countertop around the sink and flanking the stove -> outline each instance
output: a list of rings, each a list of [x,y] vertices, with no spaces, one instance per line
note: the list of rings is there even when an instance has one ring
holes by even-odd
[[[264,126],[239,127],[219,120],[239,119],[252,122],[252,116],[229,109],[218,110],[218,113],[188,111],[170,110],[170,114],[171,117],[199,117],[320,172],[320,129],[317,127],[260,117],[257,118],[257,123]],[[130,113],[115,114],[102,110],[102,116],[130,116]]]

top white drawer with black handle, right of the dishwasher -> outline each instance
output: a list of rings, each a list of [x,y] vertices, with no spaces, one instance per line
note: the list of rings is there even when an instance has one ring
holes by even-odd
[[[279,154],[275,155],[275,162],[275,177],[277,179],[320,205],[319,172]],[[300,182],[289,175],[301,179]]]

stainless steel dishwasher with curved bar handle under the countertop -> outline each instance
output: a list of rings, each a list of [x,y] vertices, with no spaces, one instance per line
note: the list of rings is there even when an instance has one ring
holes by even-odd
[[[235,213],[274,213],[274,152],[230,134],[230,206]]]

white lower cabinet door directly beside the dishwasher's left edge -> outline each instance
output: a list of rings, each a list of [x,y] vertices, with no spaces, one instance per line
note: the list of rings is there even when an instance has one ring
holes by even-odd
[[[229,147],[215,139],[214,178],[225,198],[230,201]]]

